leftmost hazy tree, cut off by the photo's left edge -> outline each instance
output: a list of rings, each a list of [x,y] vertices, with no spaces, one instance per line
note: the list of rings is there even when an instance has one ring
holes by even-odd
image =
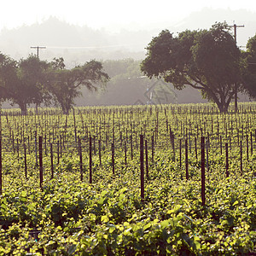
[[[46,61],[30,55],[27,59],[14,61],[1,54],[0,93],[3,100],[9,99],[18,104],[21,113],[26,113],[27,105],[44,102],[48,94],[44,90],[44,71]]]

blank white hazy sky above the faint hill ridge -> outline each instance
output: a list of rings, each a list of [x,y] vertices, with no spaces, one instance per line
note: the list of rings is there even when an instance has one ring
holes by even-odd
[[[0,29],[31,25],[55,16],[69,23],[101,28],[173,23],[204,7],[247,9],[256,12],[253,0],[0,0]]]

